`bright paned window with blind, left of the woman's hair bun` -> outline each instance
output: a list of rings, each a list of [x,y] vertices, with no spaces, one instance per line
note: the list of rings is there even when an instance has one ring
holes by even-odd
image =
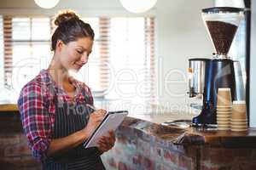
[[[4,82],[19,93],[49,58],[49,18],[3,17]]]

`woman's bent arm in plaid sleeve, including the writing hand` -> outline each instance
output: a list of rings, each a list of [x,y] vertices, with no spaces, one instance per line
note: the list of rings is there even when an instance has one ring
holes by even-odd
[[[52,127],[49,111],[46,109],[45,87],[38,82],[27,84],[20,93],[18,106],[20,119],[32,155],[38,160],[44,160],[57,152],[70,150],[82,144],[88,136],[102,122],[106,111],[99,110],[90,115],[89,122],[84,129],[61,139],[51,139]]]

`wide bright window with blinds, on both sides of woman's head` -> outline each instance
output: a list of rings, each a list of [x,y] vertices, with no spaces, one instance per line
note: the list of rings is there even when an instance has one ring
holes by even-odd
[[[153,103],[154,18],[83,20],[94,29],[96,37],[89,63],[74,76],[88,84],[96,97],[141,105]],[[55,29],[51,22],[49,17],[3,16],[2,80],[5,88],[13,89],[16,96],[26,82],[49,65],[50,32]]]

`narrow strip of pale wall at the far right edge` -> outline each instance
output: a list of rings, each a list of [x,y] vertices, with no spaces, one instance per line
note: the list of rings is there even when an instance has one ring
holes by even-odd
[[[252,1],[252,26],[251,26],[251,84],[250,84],[250,125],[256,127],[256,1]]]

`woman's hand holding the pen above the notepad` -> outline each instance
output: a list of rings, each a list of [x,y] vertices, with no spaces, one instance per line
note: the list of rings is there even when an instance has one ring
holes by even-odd
[[[90,114],[89,121],[84,127],[84,132],[87,134],[87,137],[90,136],[96,130],[96,127],[103,121],[104,116],[106,115],[107,111],[105,110],[96,110]]]

